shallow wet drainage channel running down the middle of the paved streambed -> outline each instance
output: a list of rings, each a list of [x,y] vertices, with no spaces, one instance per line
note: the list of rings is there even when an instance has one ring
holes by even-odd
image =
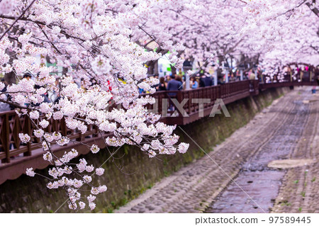
[[[306,97],[306,96],[304,96]],[[279,193],[285,169],[269,168],[273,160],[287,159],[305,128],[309,108],[301,99],[285,122],[267,143],[242,165],[242,169],[219,196],[206,208],[206,213],[269,213]],[[245,191],[245,192],[244,192]]]

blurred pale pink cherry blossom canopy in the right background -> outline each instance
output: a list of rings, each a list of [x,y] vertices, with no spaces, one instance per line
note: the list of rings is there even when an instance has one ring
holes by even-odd
[[[147,21],[150,33],[166,30],[166,38],[186,48],[168,55],[196,59],[201,69],[213,61],[220,63],[241,55],[261,66],[267,73],[274,68],[298,62],[305,55],[318,55],[318,14],[315,1],[192,1],[189,7],[170,9],[157,20]],[[160,26],[158,26],[160,24]],[[145,47],[156,40],[139,33]],[[155,43],[155,45],[154,45]],[[276,63],[275,63],[276,62]],[[276,64],[276,65],[274,65]],[[315,62],[313,62],[315,64]]]

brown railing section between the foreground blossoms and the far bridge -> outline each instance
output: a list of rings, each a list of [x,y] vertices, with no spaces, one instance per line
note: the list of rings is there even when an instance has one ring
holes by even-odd
[[[257,91],[251,92],[251,87]],[[201,99],[204,102],[203,116],[206,116],[211,113],[211,109],[218,98],[221,98],[223,103],[227,104],[246,96],[258,94],[258,91],[258,82],[249,80],[191,90],[158,91],[152,94],[156,103],[153,106],[147,106],[147,108],[152,109],[154,113],[161,114],[161,120],[164,123],[185,125],[201,117],[198,115],[199,104],[196,99]],[[183,107],[182,112],[177,105]]]

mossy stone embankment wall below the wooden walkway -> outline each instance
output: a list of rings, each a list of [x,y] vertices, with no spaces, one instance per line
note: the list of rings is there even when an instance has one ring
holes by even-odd
[[[275,98],[286,93],[288,89],[271,89],[259,96],[249,97],[227,105],[230,118],[216,115],[213,118],[202,118],[181,128],[185,130],[206,152],[223,142],[235,130],[247,124],[262,108],[269,106]],[[100,166],[106,170],[103,176],[97,178],[101,184],[108,186],[108,191],[99,195],[96,201],[96,211],[111,213],[121,205],[125,205],[151,188],[154,183],[169,176],[182,166],[203,157],[204,153],[179,128],[175,131],[181,142],[190,144],[186,154],[159,156],[150,159],[135,147],[124,146],[118,150],[118,159],[103,162],[110,157],[108,151],[101,150],[98,154],[87,154],[89,164]],[[110,149],[113,152],[116,149]],[[81,157],[80,157],[81,158]],[[119,170],[121,169],[121,170]],[[47,174],[46,170],[38,170],[39,174]],[[30,178],[20,176],[14,181],[6,181],[0,185],[0,213],[52,213],[65,202],[65,192],[48,190],[47,181],[35,176]],[[70,212],[67,205],[57,210],[57,213]]]

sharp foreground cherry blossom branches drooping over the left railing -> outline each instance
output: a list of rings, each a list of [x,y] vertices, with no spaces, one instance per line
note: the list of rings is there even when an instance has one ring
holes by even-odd
[[[77,157],[76,149],[57,157],[52,145],[77,142],[60,132],[45,132],[54,120],[64,119],[67,128],[85,134],[89,125],[99,132],[111,132],[105,145],[121,147],[135,145],[149,157],[157,154],[186,152],[189,145],[180,143],[173,134],[174,126],[157,122],[160,115],[150,113],[146,104],[154,103],[150,96],[140,96],[138,88],[151,88],[156,79],[147,78],[144,63],[157,60],[160,52],[145,51],[131,37],[133,33],[151,31],[144,21],[156,18],[157,13],[178,9],[184,1],[1,1],[1,72],[13,73],[17,84],[0,84],[0,101],[10,103],[16,111],[26,115],[40,138],[43,159],[53,165],[49,169],[47,188],[63,188],[69,197],[69,208],[83,209],[88,203],[95,208],[96,195],[106,191],[105,185],[92,183],[92,176],[101,176],[103,169],[89,166],[85,159],[70,164]],[[156,36],[155,36],[156,35]],[[158,35],[158,37],[157,37]],[[178,50],[160,31],[153,34],[162,50]],[[41,56],[42,64],[35,64]],[[44,60],[63,67],[62,77],[45,67]],[[176,59],[177,63],[180,62]],[[28,77],[21,75],[28,73]],[[4,91],[5,90],[5,91]],[[54,93],[57,98],[45,101],[44,94]],[[122,108],[108,109],[111,102]],[[48,103],[50,102],[50,103]],[[30,142],[30,135],[19,134],[21,142]],[[103,139],[103,136],[101,136]],[[84,144],[83,144],[84,145]],[[99,152],[99,147],[88,147]],[[28,176],[35,176],[27,169]],[[82,186],[91,187],[86,198],[79,192]]]

